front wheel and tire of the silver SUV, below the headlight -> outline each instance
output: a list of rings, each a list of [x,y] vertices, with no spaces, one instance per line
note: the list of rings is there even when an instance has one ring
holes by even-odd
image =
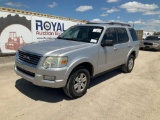
[[[66,95],[71,98],[79,98],[87,92],[90,83],[89,71],[80,68],[71,73],[67,84],[63,88]]]

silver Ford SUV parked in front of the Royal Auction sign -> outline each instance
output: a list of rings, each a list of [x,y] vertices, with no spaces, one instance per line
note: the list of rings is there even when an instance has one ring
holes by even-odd
[[[70,27],[54,40],[25,45],[16,53],[15,71],[38,86],[63,88],[83,96],[90,78],[120,66],[132,71],[138,56],[135,30],[125,23],[87,23]]]

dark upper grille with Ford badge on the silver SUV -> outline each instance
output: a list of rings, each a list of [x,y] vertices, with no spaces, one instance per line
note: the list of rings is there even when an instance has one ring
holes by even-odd
[[[23,52],[23,51],[18,51],[19,53],[19,59],[21,61],[24,61],[26,63],[32,64],[32,65],[37,65],[41,59],[40,55],[28,53],[28,52]]]

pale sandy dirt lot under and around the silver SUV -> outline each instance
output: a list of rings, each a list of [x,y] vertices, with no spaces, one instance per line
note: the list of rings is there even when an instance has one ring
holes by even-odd
[[[0,58],[1,120],[160,120],[160,52],[140,51],[130,74],[94,78],[75,100],[25,81],[13,66],[13,57]]]

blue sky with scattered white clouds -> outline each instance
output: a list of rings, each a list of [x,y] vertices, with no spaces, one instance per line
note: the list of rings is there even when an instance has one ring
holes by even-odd
[[[160,0],[0,0],[0,7],[160,31]]]

